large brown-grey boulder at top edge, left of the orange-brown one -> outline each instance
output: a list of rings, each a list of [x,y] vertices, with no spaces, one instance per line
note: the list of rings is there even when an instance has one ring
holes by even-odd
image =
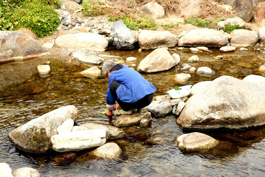
[[[236,9],[235,15],[249,22],[253,17],[253,0],[234,0],[233,9]]]

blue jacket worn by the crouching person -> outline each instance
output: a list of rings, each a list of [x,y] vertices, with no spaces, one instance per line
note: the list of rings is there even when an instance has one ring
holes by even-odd
[[[119,100],[126,103],[134,103],[145,95],[154,93],[157,89],[147,80],[145,80],[140,73],[123,65],[121,69],[111,73],[108,77],[108,87],[106,93],[106,102],[108,105],[115,104],[114,97],[110,92],[110,84],[119,82],[121,85],[116,90]]]

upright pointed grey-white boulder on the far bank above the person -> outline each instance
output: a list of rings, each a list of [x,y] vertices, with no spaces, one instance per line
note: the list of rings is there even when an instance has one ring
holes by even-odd
[[[131,50],[134,48],[136,43],[135,36],[131,29],[127,28],[121,20],[114,22],[111,29],[115,34],[112,45],[116,49]]]

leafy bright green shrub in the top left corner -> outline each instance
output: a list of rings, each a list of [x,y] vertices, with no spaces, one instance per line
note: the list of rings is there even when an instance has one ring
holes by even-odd
[[[60,22],[56,5],[59,0],[0,0],[0,30],[27,28],[37,37],[52,34]]]

